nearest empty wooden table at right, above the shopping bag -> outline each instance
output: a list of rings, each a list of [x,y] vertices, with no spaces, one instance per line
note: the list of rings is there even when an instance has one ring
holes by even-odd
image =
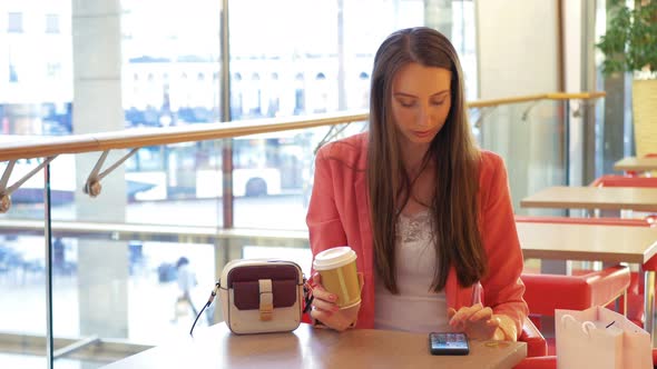
[[[657,255],[657,228],[517,222],[524,258],[629,262],[643,265]],[[645,329],[655,335],[655,272],[645,271]]]

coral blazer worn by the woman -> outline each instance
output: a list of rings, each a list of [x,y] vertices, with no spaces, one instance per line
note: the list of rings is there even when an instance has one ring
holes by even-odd
[[[306,216],[313,255],[349,245],[357,255],[364,286],[356,328],[374,328],[374,253],[366,180],[367,133],[331,142],[315,158],[313,192]],[[385,180],[382,178],[381,180]],[[520,280],[523,259],[516,231],[507,171],[502,159],[481,152],[479,227],[489,275],[481,280],[483,303],[510,317],[520,333],[527,317]],[[452,267],[444,289],[448,307],[471,306],[472,287],[459,286]]]

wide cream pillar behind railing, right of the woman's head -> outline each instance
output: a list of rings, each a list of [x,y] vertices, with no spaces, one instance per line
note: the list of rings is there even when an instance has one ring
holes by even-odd
[[[557,91],[556,2],[478,1],[475,17],[480,99]],[[483,147],[507,160],[520,213],[527,212],[519,207],[522,197],[563,178],[563,168],[555,166],[555,152],[561,150],[562,138],[556,136],[560,111],[559,103],[550,101],[517,103],[494,108],[483,121]]]

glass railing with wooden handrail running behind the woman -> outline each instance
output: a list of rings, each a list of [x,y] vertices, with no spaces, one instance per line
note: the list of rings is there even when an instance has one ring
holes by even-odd
[[[506,160],[519,213],[523,196],[568,182],[567,158],[578,149],[570,142],[567,150],[565,106],[599,96],[470,103],[479,143]],[[0,367],[101,367],[187,335],[194,309],[177,301],[183,257],[196,275],[196,309],[235,258],[285,257],[307,275],[314,152],[365,130],[365,120],[357,112],[37,141],[3,137],[0,195],[12,193],[0,215]],[[49,178],[40,170],[12,187],[48,157]],[[95,172],[101,189],[91,197]],[[233,227],[225,227],[226,215]],[[219,310],[199,326],[220,321]]]

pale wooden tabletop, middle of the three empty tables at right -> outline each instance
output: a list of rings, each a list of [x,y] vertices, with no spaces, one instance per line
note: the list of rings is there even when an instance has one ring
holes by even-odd
[[[520,200],[523,208],[657,211],[657,188],[556,186]]]

